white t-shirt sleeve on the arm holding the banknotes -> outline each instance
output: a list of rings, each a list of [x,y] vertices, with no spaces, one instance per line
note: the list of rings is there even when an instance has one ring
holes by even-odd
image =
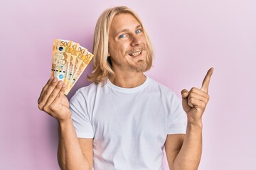
[[[70,99],[70,111],[77,136],[79,138],[93,138],[91,115],[86,98],[80,90]]]

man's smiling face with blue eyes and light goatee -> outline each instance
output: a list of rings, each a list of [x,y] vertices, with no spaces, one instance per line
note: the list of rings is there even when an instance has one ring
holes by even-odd
[[[114,16],[110,26],[109,55],[114,70],[144,72],[146,39],[142,25],[129,13]]]

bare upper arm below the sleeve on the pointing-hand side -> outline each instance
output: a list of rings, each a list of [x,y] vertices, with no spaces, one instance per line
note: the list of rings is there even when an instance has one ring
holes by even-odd
[[[178,152],[181,150],[184,141],[184,134],[167,135],[164,144],[169,169],[173,169],[173,164]]]

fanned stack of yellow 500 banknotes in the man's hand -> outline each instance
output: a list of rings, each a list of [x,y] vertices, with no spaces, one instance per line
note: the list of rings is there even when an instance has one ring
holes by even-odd
[[[66,84],[66,95],[85,71],[92,57],[92,53],[76,42],[54,40],[51,76],[57,77],[58,80],[62,80]]]

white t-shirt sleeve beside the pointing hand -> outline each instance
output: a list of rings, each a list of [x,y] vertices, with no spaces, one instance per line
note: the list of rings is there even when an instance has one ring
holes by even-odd
[[[175,94],[171,98],[171,113],[168,121],[168,134],[186,133],[186,113],[181,100]]]

